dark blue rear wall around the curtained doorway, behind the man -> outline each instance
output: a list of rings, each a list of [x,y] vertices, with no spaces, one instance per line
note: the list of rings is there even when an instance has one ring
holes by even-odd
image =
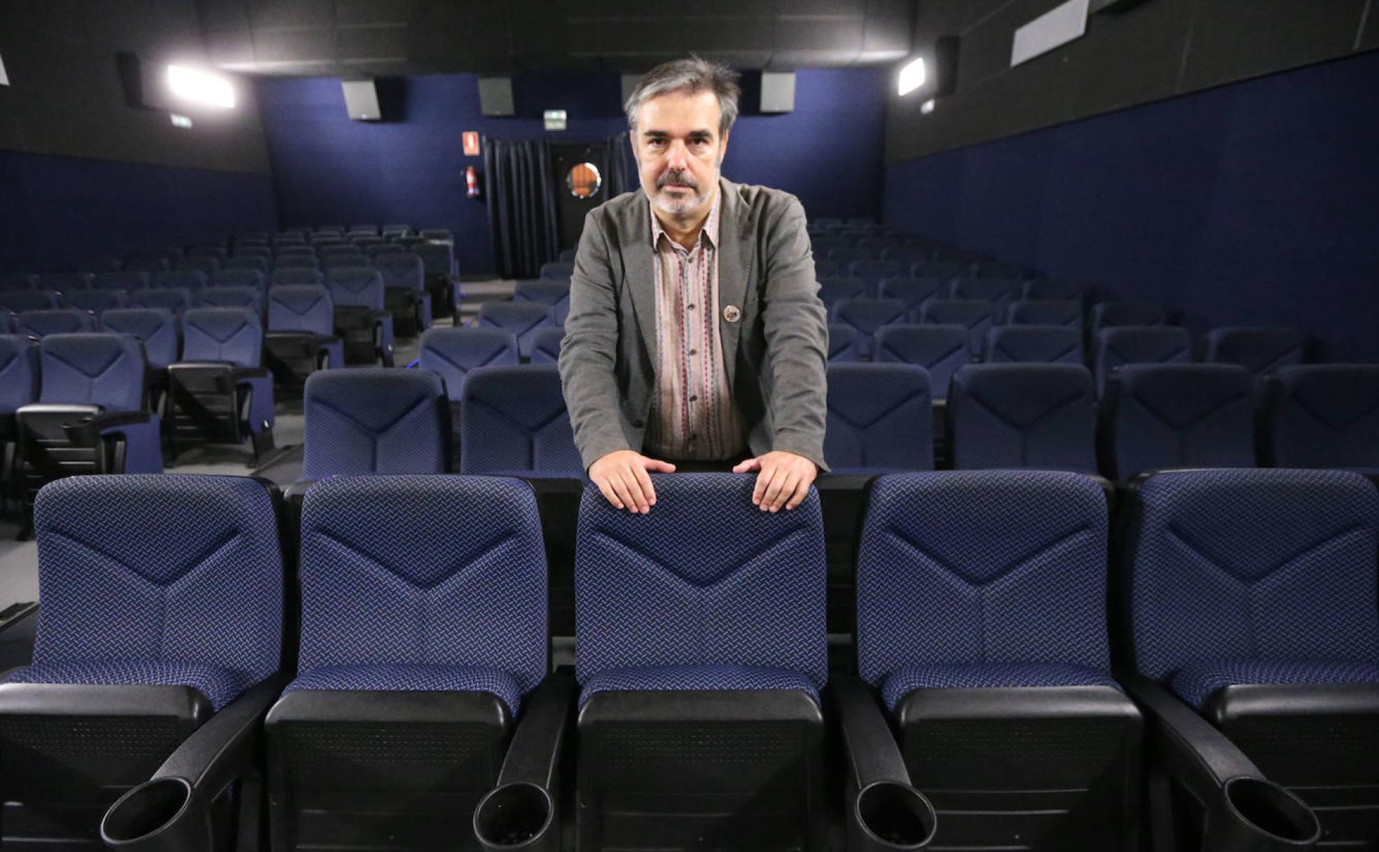
[[[743,116],[724,174],[797,193],[811,215],[880,211],[884,77],[876,70],[805,70],[796,110]],[[514,79],[517,116],[480,114],[473,74],[386,81],[389,121],[352,121],[339,80],[270,80],[258,98],[284,225],[410,222],[455,232],[461,272],[492,270],[487,208],[465,197],[463,131],[501,139],[545,135],[543,109],[565,109],[554,142],[626,131],[616,74],[524,74]],[[389,101],[392,99],[392,103]],[[745,98],[746,101],[747,98]],[[389,113],[389,105],[393,113]]]

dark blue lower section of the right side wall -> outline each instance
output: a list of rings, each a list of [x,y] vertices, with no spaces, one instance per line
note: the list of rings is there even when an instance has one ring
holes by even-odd
[[[1371,52],[892,164],[884,221],[1379,361],[1376,81]]]

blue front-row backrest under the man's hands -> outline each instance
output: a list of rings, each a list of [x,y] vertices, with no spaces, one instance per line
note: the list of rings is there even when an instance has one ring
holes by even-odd
[[[652,476],[650,514],[585,488],[575,551],[579,682],[636,666],[790,669],[826,678],[819,496],[752,505],[750,474]]]

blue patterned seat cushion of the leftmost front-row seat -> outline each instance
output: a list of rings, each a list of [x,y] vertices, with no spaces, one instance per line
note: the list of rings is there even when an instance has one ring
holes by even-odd
[[[6,678],[10,684],[97,684],[109,687],[190,687],[219,710],[252,685],[243,671],[207,663],[110,659],[34,663]]]

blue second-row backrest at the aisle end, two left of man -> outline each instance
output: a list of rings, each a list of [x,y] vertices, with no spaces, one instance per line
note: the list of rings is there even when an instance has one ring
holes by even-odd
[[[302,474],[444,473],[450,454],[445,383],[429,369],[316,371],[303,390]]]

